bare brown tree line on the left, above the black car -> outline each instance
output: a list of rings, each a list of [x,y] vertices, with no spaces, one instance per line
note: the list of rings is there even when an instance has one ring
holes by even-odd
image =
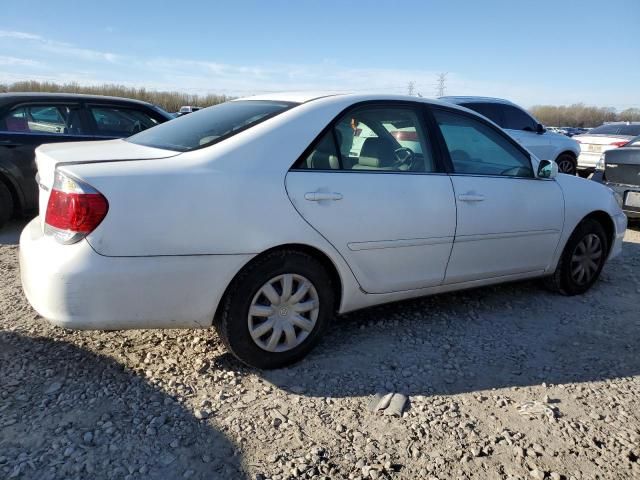
[[[175,112],[183,105],[208,107],[227,101],[226,95],[195,95],[181,92],[158,92],[146,88],[125,87],[124,85],[104,84],[83,86],[77,83],[58,84],[53,82],[24,81],[10,84],[0,83],[0,92],[53,92],[86,93],[90,95],[109,95],[113,97],[135,98],[158,105],[168,112]]]

